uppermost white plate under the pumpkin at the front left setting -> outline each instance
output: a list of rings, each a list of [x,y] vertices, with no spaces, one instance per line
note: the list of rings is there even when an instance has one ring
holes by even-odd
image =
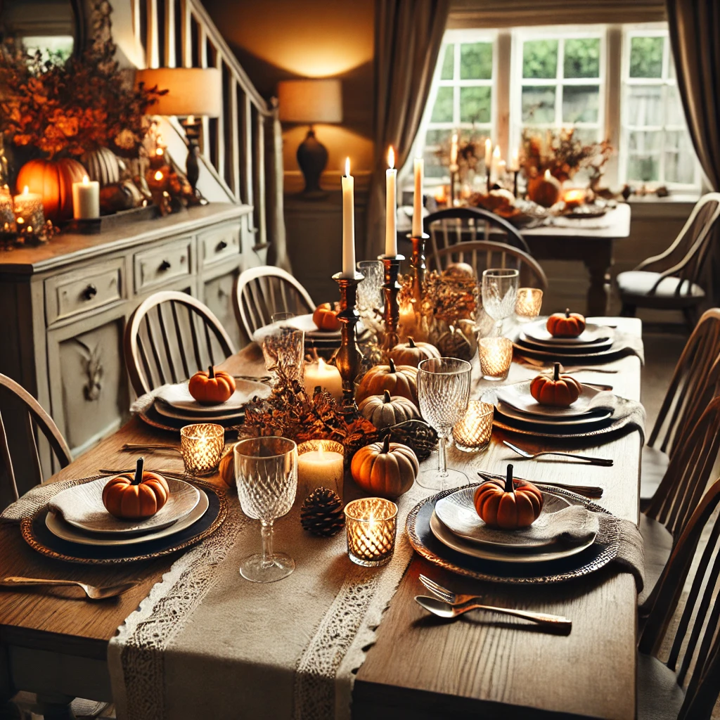
[[[55,510],[69,525],[80,530],[117,536],[138,535],[156,531],[181,520],[192,513],[200,500],[200,491],[184,480],[166,477],[170,496],[155,515],[145,520],[120,520],[110,515],[102,503],[102,491],[113,477],[99,477],[91,482],[73,485],[58,492],[50,500],[50,509]]]

